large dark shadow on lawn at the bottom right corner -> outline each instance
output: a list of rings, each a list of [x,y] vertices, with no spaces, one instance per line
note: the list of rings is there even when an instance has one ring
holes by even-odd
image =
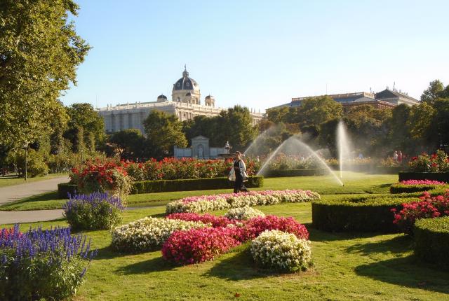
[[[398,286],[449,293],[449,272],[424,264],[415,255],[360,265],[355,272],[359,276]]]

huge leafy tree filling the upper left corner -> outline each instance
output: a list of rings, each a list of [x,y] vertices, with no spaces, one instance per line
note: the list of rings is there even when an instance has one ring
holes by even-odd
[[[48,134],[57,101],[89,45],[75,32],[72,0],[0,2],[0,141],[21,146]]]

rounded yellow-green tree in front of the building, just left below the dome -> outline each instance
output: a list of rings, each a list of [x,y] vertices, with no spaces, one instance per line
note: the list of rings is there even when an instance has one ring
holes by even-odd
[[[182,123],[174,115],[154,110],[143,125],[147,136],[147,154],[151,157],[170,157],[173,155],[173,146],[187,146]]]

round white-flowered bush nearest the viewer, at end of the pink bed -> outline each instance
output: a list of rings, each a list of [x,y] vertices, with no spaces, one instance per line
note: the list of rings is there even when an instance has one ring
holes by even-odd
[[[294,272],[311,265],[310,241],[279,230],[262,232],[250,250],[257,264],[271,269]]]

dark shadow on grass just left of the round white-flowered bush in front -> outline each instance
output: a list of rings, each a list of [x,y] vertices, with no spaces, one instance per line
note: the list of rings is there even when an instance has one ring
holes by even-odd
[[[260,269],[254,263],[248,245],[239,246],[232,251],[232,256],[217,262],[203,276],[213,276],[230,281],[257,279],[278,275],[269,269]]]

